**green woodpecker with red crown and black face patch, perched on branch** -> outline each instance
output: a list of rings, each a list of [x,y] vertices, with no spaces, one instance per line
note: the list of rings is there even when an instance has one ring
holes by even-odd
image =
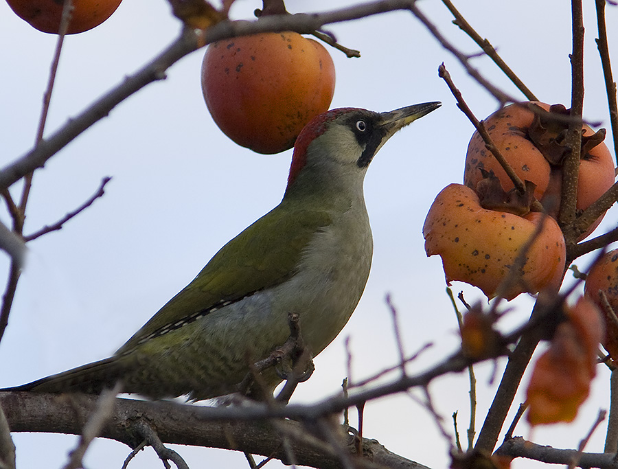
[[[124,392],[153,399],[222,396],[288,339],[289,313],[319,354],[350,319],[369,276],[367,167],[391,135],[439,106],[315,117],[296,141],[281,203],[225,244],[111,358],[3,390],[99,393],[122,381]],[[272,369],[262,378],[271,393],[282,381]]]

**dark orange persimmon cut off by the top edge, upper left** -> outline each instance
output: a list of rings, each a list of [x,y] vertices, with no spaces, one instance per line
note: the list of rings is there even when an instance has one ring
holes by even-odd
[[[39,31],[58,34],[62,0],[6,0],[21,19]],[[122,0],[73,0],[67,34],[77,34],[100,25],[116,11]]]

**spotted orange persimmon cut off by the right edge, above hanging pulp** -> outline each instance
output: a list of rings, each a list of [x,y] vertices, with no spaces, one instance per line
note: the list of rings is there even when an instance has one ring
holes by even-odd
[[[604,312],[603,346],[614,360],[618,360],[618,323],[612,315],[612,312],[618,314],[618,249],[605,253],[593,265],[586,277],[584,292]],[[608,305],[604,304],[605,300]],[[608,310],[607,306],[612,311]]]

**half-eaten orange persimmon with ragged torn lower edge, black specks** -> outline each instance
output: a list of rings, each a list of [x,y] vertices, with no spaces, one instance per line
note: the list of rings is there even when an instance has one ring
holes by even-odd
[[[543,226],[516,265],[520,250]],[[484,209],[470,187],[450,184],[431,205],[423,225],[427,255],[439,255],[446,282],[459,280],[477,286],[488,298],[501,293],[513,299],[558,287],[566,259],[564,237],[553,218],[539,212],[525,216]],[[507,276],[512,273],[511,277]],[[499,292],[499,286],[503,290]]]

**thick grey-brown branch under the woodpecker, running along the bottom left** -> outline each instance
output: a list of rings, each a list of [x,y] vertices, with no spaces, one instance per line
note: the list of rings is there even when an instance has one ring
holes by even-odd
[[[79,422],[87,420],[96,401],[97,396],[84,394],[58,396],[28,392],[0,393],[0,404],[6,409],[10,427],[17,432],[45,431],[78,435],[82,430]],[[284,411],[290,408],[280,409]],[[305,406],[299,408],[309,409]],[[111,419],[103,426],[100,435],[135,448],[141,443],[137,441],[141,437],[136,433],[135,425],[147,422],[164,443],[241,450],[266,457],[272,455],[286,461],[287,455],[281,444],[282,429],[286,433],[289,430],[290,435],[299,431],[306,434],[306,430],[300,422],[289,420],[277,420],[276,425],[269,424],[264,419],[268,413],[269,409],[262,405],[256,405],[255,409],[209,408],[176,402],[117,398]],[[244,422],[238,419],[236,422],[224,420],[225,415],[242,417],[243,414],[247,417]],[[258,418],[258,415],[261,417]],[[339,455],[330,445],[316,442],[315,439],[290,439],[293,439],[291,444],[297,464],[325,469],[341,468]],[[363,448],[369,456],[363,458],[365,464],[359,467],[375,468],[374,464],[382,464],[404,469],[428,469],[391,453],[375,440],[365,440]],[[358,459],[355,461],[361,462]]]

